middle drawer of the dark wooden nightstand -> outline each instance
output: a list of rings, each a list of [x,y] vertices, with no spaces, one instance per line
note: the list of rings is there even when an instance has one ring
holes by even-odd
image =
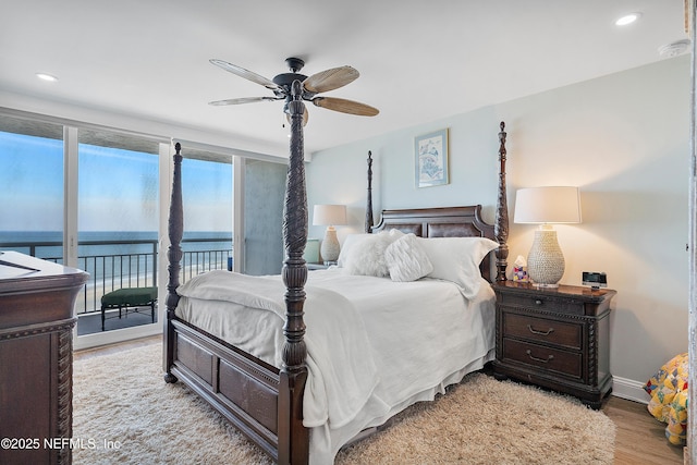
[[[503,311],[502,317],[504,338],[522,338],[575,350],[583,347],[583,323],[557,321],[509,311]]]

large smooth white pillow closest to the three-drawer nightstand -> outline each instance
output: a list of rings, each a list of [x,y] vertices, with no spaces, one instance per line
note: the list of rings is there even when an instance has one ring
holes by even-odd
[[[479,265],[499,244],[486,237],[429,237],[417,238],[433,266],[429,278],[454,282],[466,298],[479,292]]]

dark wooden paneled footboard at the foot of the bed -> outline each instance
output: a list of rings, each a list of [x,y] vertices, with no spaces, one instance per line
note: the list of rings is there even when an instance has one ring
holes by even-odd
[[[174,318],[169,326],[173,358],[166,380],[182,381],[276,462],[307,463],[306,377],[293,383],[288,374],[185,321]]]

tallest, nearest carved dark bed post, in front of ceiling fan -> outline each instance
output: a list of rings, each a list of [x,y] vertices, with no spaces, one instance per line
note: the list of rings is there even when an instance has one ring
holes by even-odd
[[[307,381],[307,347],[305,345],[305,282],[307,266],[303,258],[307,243],[307,193],[305,188],[305,149],[303,139],[302,100],[303,86],[293,82],[291,117],[291,154],[283,206],[283,283],[285,293],[285,326],[283,334],[283,367],[279,386],[279,446],[280,464],[307,463],[309,458],[309,431],[303,426],[303,392]]]

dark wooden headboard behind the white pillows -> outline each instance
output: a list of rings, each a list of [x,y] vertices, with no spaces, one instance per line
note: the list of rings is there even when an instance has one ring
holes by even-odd
[[[420,237],[488,237],[496,241],[494,227],[481,219],[481,205],[468,207],[383,210],[372,232],[396,229]],[[493,282],[492,258],[488,254],[479,266],[481,276]]]

